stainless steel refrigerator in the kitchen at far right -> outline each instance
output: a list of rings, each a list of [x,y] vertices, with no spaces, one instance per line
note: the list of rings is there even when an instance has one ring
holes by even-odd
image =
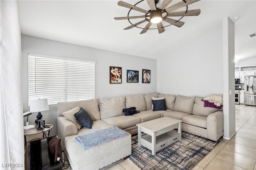
[[[244,104],[256,106],[256,75],[244,76]]]

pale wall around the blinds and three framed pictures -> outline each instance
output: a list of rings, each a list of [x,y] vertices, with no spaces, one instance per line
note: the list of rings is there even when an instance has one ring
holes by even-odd
[[[156,59],[149,59],[133,55],[126,55],[112,51],[105,51],[80,45],[56,42],[32,36],[21,36],[22,42],[22,85],[23,109],[28,109],[28,53],[54,55],[60,57],[74,57],[78,59],[94,60],[95,64],[95,97],[113,98],[123,95],[148,94],[156,92]],[[107,44],[106,44],[107,45]],[[122,67],[122,83],[109,83],[109,67]],[[139,71],[139,83],[126,82],[126,70]],[[151,83],[142,83],[142,69],[151,70]],[[54,125],[53,134],[57,134],[57,108],[50,106],[49,111],[43,111],[46,122]],[[34,124],[37,113],[29,116],[29,123]],[[24,125],[25,125],[24,119]]]

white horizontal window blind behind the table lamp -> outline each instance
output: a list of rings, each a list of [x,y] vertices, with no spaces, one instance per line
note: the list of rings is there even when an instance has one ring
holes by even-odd
[[[48,99],[49,105],[61,101],[94,99],[95,61],[28,55],[28,104]]]

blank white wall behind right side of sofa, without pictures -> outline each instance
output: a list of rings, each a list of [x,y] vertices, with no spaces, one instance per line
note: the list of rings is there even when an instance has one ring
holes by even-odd
[[[157,60],[158,93],[222,94],[222,29],[171,51]]]

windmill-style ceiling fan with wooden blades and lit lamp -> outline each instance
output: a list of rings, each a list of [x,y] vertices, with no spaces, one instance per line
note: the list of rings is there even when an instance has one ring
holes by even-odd
[[[144,0],[141,0],[140,2],[142,2],[142,1],[144,1]],[[132,24],[132,22],[130,21],[131,19],[144,18],[144,20],[137,22],[135,24],[132,24],[131,26],[124,28],[124,30],[129,30],[134,27],[140,28],[138,25],[140,25],[144,22],[148,22],[148,24],[144,28],[141,28],[143,30],[142,30],[142,32],[140,32],[140,34],[146,33],[149,29],[156,29],[156,28],[150,28],[150,26],[152,24],[156,24],[158,33],[161,34],[165,31],[164,27],[167,27],[170,25],[174,25],[176,27],[182,27],[184,25],[184,22],[180,21],[180,19],[183,18],[184,16],[198,16],[201,12],[200,9],[188,10],[188,5],[198,2],[198,1],[200,1],[200,0],[182,0],[181,2],[178,2],[174,5],[166,8],[172,2],[172,0],[163,0],[162,4],[160,4],[159,7],[157,7],[157,5],[156,5],[159,2],[159,0],[146,0],[146,2],[148,3],[148,6],[150,8],[150,10],[148,10],[148,11],[136,6],[140,2],[136,3],[135,5],[131,5],[126,2],[119,1],[117,3],[118,6],[129,8],[130,10],[128,12],[127,17],[115,17],[114,19],[115,20],[128,20],[130,22],[130,24]],[[172,12],[174,10],[180,9],[185,6],[186,6],[185,11]],[[144,15],[129,16],[131,10],[142,12],[142,13],[144,13]],[[181,18],[179,20],[175,20],[175,19],[172,19],[169,17],[181,17]],[[162,21],[167,22],[169,25],[163,26]]]

